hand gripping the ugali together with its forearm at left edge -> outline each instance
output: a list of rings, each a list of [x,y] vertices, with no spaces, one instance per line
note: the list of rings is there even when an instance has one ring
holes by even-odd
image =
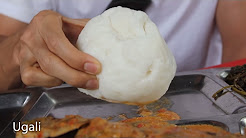
[[[73,45],[88,19],[73,20],[41,11],[27,25],[1,15],[1,23],[11,20],[19,27],[11,28],[13,24],[7,23],[0,29],[4,35],[0,43],[0,91],[19,88],[22,83],[53,87],[66,82],[98,88],[95,75],[101,71],[100,63]]]

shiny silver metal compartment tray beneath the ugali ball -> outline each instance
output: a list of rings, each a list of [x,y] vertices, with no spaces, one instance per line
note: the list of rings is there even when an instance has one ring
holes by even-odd
[[[227,86],[223,80],[229,68],[197,70],[177,73],[168,92],[147,108],[160,108],[178,113],[181,120],[170,121],[177,125],[212,124],[232,133],[244,134],[246,99],[237,93],[226,93],[217,100],[212,95]],[[138,107],[109,103],[92,98],[69,85],[45,89],[27,88],[8,91],[0,95],[0,136],[14,137],[12,122],[37,117],[77,114],[86,118],[112,117],[120,114],[128,118],[139,116]]]

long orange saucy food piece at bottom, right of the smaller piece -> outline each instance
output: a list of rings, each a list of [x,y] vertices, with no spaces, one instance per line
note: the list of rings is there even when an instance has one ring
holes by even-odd
[[[145,117],[143,117],[145,118]],[[156,122],[156,121],[155,121]],[[149,122],[148,122],[149,123]],[[89,126],[78,131],[75,138],[81,137],[165,137],[165,138],[217,138],[217,137],[243,137],[212,125],[183,125],[162,124],[157,128],[151,128],[149,124],[141,128],[131,124],[108,122],[101,118],[91,120]]]

